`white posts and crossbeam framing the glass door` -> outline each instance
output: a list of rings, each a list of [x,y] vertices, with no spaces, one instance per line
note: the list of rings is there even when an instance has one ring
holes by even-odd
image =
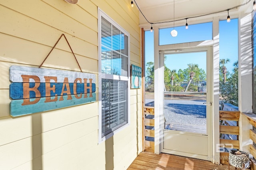
[[[170,45],[159,45],[159,29],[165,26],[157,25],[154,27],[154,111],[155,111],[155,142],[154,142],[154,151],[155,154],[160,154],[160,139],[162,134],[160,133],[160,115],[159,110],[162,107],[159,103],[162,93],[158,93],[159,90],[163,91],[163,87],[159,86],[159,78],[157,75],[161,72],[159,67],[159,56],[160,50],[164,49],[179,49],[179,48],[188,48],[188,47],[200,47],[200,46],[212,46],[212,71],[213,71],[213,114],[212,114],[212,163],[220,164],[220,152],[218,151],[218,144],[220,143],[220,117],[219,117],[219,18],[212,19],[212,40],[205,40],[199,42],[188,42],[180,44],[170,44]],[[216,105],[214,105],[216,103]]]

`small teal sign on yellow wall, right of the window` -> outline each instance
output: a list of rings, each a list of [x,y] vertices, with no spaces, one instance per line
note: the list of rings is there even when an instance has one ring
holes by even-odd
[[[131,70],[131,89],[138,89],[141,87],[142,68],[132,64]]]

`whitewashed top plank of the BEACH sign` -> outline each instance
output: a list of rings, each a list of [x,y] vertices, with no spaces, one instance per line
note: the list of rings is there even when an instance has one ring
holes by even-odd
[[[64,79],[67,78],[68,82],[75,82],[76,78],[81,78],[84,83],[84,79],[87,79],[86,83],[90,83],[89,79],[92,79],[92,83],[96,83],[96,75],[92,73],[82,73],[77,71],[64,71],[57,69],[42,69],[35,67],[22,67],[12,65],[10,67],[10,81],[11,82],[24,82],[21,75],[36,75],[40,82],[46,83],[44,76],[57,77],[55,83],[63,83]],[[30,79],[30,82],[33,82],[33,79]],[[53,82],[54,83],[54,82]]]

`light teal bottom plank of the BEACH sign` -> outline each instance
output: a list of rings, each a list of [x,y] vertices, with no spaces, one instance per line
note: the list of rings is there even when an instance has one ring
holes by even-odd
[[[28,115],[31,113],[38,113],[43,111],[50,111],[53,109],[60,109],[64,107],[71,107],[75,105],[82,105],[85,103],[91,103],[96,101],[96,93],[92,93],[92,97],[89,97],[89,94],[87,98],[84,98],[84,95],[77,99],[74,95],[65,95],[63,96],[64,100],[60,101],[60,97],[58,96],[58,101],[56,102],[46,102],[46,97],[40,98],[40,101],[38,103],[35,103],[33,105],[22,105],[24,102],[24,99],[19,100],[13,100],[10,103],[10,115],[12,117],[18,117],[22,115]],[[72,99],[68,100],[68,97],[71,96]],[[34,99],[30,99],[31,101]]]

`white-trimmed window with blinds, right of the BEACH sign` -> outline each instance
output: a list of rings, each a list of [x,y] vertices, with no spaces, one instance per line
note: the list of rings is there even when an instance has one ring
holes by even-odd
[[[129,123],[130,34],[100,9],[98,15],[99,140],[103,141]]]

